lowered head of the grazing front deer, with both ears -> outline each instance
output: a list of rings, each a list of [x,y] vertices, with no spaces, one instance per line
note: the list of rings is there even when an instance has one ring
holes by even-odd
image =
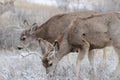
[[[42,64],[46,69],[46,73],[50,73],[52,71],[55,71],[56,68],[56,62],[55,59],[55,53],[58,51],[58,43],[55,42],[54,45],[49,43],[46,40],[43,40],[42,38],[35,39],[36,43],[38,42],[40,47],[41,47],[41,52],[42,54],[41,59],[42,59]],[[30,44],[31,42],[29,42]],[[25,48],[25,47],[23,47]]]

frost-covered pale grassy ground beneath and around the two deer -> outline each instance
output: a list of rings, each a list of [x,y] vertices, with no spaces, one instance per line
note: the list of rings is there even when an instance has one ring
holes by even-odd
[[[103,59],[103,50],[94,52],[94,80],[111,80],[117,65],[117,55],[113,48],[106,48],[106,59]],[[77,53],[65,56],[59,62],[55,75],[50,78],[47,77],[40,57],[37,55],[23,57],[27,54],[29,53],[26,51],[0,50],[0,80],[76,80],[74,69]],[[90,80],[92,70],[86,56],[81,61],[79,80]]]

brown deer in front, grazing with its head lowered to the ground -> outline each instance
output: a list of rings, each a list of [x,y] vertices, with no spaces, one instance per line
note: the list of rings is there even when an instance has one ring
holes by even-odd
[[[77,65],[86,54],[92,64],[91,51],[106,46],[113,46],[120,60],[120,13],[100,13],[86,18],[79,17],[54,43],[55,51],[47,53],[48,55],[42,60],[43,64],[47,65],[45,67],[48,73],[54,71],[58,62],[74,48],[80,49]],[[116,74],[120,74],[120,61],[115,71]]]

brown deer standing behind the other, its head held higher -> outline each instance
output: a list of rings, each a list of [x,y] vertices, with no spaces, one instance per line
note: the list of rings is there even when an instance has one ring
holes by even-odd
[[[65,29],[74,19],[77,17],[84,18],[96,13],[94,11],[79,11],[55,15],[39,27],[37,24],[33,24],[30,29],[24,30],[20,37],[20,43],[27,45],[30,41],[37,38],[43,38],[53,43],[59,34],[64,33]],[[26,23],[26,21],[24,22]],[[18,47],[18,49],[22,48],[22,46]]]

